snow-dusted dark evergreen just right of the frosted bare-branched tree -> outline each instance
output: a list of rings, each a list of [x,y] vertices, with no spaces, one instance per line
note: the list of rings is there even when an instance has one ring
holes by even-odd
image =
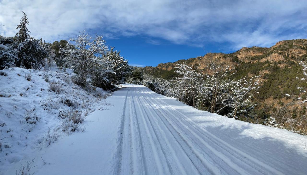
[[[114,47],[111,47],[111,50],[108,51],[107,54],[103,55],[103,57],[110,62],[111,69],[113,70],[113,73],[109,75],[109,80],[111,83],[124,83],[124,77],[126,73],[130,71],[128,61],[120,55],[120,52],[117,52],[117,50],[114,51]]]

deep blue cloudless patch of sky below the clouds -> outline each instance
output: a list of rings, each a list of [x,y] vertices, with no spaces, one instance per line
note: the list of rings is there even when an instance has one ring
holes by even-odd
[[[222,52],[219,46],[195,47],[174,44],[164,39],[154,39],[154,43],[144,36],[107,39],[107,43],[121,50],[121,55],[134,66],[156,66],[159,63],[174,62],[180,59],[194,58],[208,52]]]

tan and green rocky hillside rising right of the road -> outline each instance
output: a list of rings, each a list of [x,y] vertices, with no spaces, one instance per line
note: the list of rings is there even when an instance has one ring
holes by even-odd
[[[297,87],[307,88],[307,82],[297,79],[302,76],[302,67],[297,62],[307,56],[307,39],[285,40],[270,48],[243,47],[230,53],[208,53],[197,58],[160,63],[156,67],[146,66],[143,72],[166,80],[177,76],[174,67],[178,63],[186,63],[203,73],[207,70],[208,60],[214,59],[226,63],[237,73],[234,78],[260,75],[262,80],[259,93],[254,94],[253,102],[255,117],[240,118],[240,120],[262,124],[269,117],[276,119],[280,128],[307,135],[306,104],[297,104],[285,94],[304,99],[306,94]],[[300,77],[301,78],[301,77]]]

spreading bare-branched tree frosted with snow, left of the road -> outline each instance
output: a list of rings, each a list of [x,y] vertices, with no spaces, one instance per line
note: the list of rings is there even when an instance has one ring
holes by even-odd
[[[61,49],[61,53],[68,57],[68,66],[80,76],[79,84],[85,86],[90,73],[104,73],[98,65],[106,63],[102,55],[106,54],[108,47],[103,36],[92,38],[85,31],[76,38],[71,38],[75,49]]]

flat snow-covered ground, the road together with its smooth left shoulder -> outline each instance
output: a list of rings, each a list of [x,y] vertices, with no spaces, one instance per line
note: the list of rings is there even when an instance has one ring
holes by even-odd
[[[2,173],[14,174],[34,157],[36,174],[307,172],[305,136],[196,110],[142,85],[126,84],[106,101],[108,110],[88,115],[86,131],[27,147],[19,162],[2,160]]]

